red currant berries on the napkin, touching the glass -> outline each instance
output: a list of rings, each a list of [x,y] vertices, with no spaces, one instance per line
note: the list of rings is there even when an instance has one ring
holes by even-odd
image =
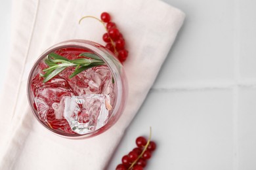
[[[100,15],[102,22],[106,23],[107,33],[104,33],[102,39],[105,41],[106,48],[116,54],[117,58],[121,63],[125,61],[128,56],[128,51],[125,49],[125,39],[123,35],[117,29],[117,26],[114,22],[110,22],[111,17],[108,12],[102,12]]]

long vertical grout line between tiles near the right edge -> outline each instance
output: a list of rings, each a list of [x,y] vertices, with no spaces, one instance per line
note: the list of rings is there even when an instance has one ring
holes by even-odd
[[[234,0],[233,169],[239,169],[238,109],[240,78],[240,0]]]

